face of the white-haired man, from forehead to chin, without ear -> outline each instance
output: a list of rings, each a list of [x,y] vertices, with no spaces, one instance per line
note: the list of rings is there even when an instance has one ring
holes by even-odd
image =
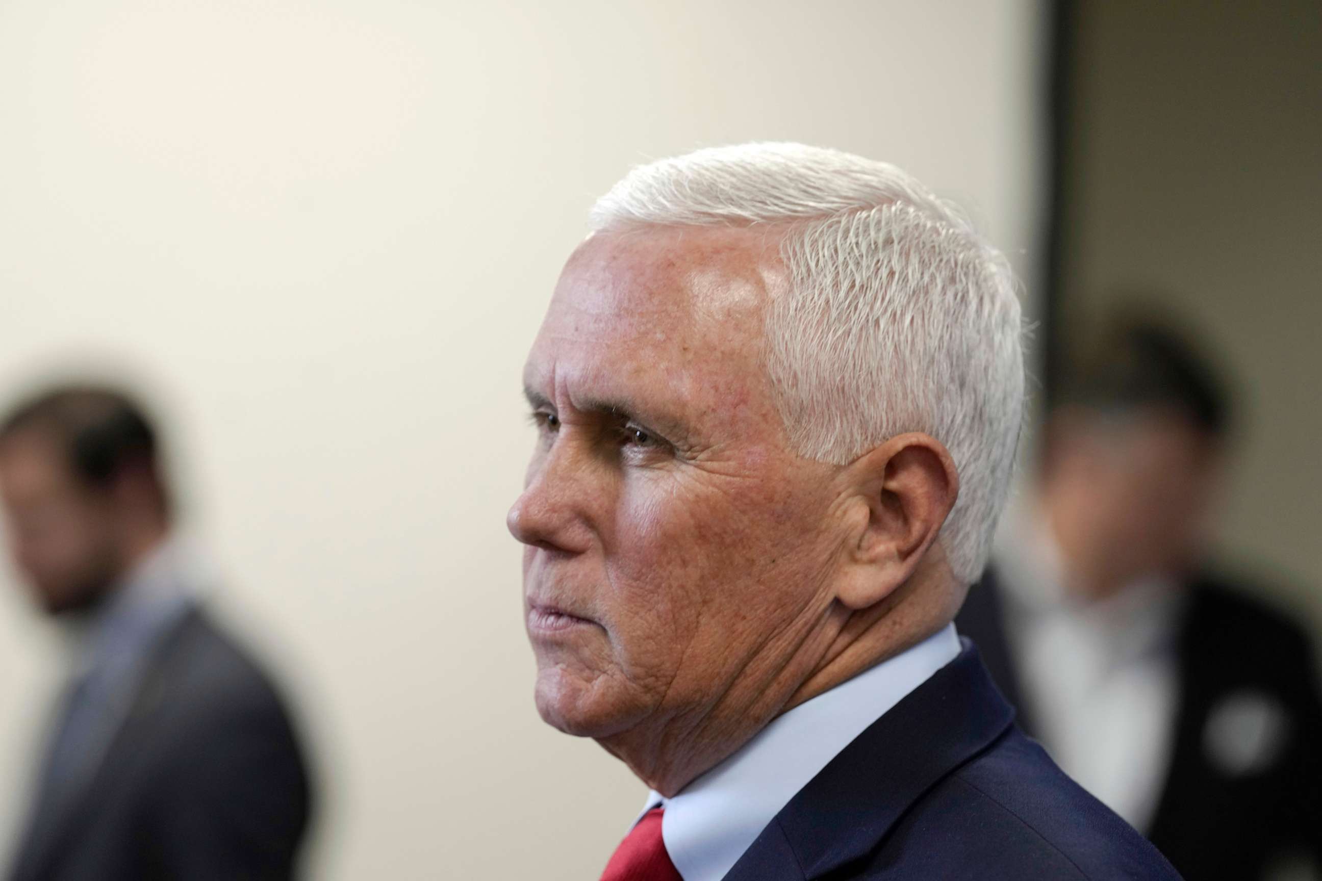
[[[773,659],[818,638],[834,469],[787,449],[761,366],[783,284],[775,236],[743,229],[599,234],[561,276],[509,528],[538,711],[564,732],[771,713],[796,674]]]

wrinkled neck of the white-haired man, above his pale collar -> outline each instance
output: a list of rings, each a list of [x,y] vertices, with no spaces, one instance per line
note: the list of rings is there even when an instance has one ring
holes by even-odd
[[[948,575],[944,576],[949,579]],[[710,705],[653,720],[598,742],[670,798],[752,740],[773,719],[916,646],[954,618],[962,590],[915,573],[886,600],[854,612],[839,602],[750,662]],[[939,589],[940,588],[940,589]],[[792,651],[785,651],[788,642]],[[776,660],[771,660],[775,658]]]

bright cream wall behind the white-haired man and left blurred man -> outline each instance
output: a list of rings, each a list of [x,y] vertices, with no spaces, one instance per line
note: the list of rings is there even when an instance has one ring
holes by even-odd
[[[594,197],[798,139],[1036,258],[1036,5],[11,0],[0,399],[168,416],[230,616],[315,733],[316,877],[595,877],[642,798],[531,704],[504,527],[522,358]],[[0,839],[57,641],[0,569]]]

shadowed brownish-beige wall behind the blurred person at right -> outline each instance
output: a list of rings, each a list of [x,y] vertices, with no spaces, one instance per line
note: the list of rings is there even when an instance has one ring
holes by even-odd
[[[1222,355],[1222,544],[1322,633],[1322,5],[1079,7],[1068,329],[1138,288]]]

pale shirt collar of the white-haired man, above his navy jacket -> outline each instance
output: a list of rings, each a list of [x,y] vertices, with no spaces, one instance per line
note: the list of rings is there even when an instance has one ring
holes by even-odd
[[[720,881],[798,790],[960,654],[954,625],[772,720],[664,806],[661,837],[683,881]]]

